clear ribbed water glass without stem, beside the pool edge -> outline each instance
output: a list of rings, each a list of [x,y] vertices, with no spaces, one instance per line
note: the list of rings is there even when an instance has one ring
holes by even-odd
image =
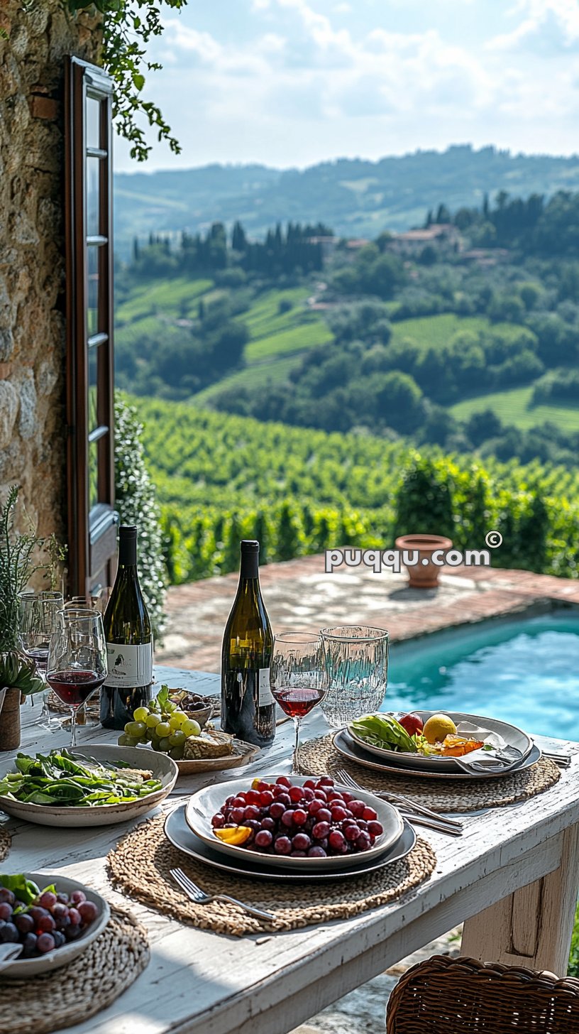
[[[322,710],[329,725],[379,710],[388,682],[388,632],[361,625],[322,629],[328,689]]]

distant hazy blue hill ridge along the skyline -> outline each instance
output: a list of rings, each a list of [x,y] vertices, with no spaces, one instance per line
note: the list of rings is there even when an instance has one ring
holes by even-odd
[[[422,223],[441,201],[456,209],[480,204],[485,192],[551,194],[578,185],[577,156],[514,155],[470,145],[379,161],[342,158],[302,171],[206,165],[123,173],[115,177],[116,248],[126,258],[135,235],[194,232],[216,220],[241,219],[251,236],[262,236],[280,213],[284,220],[322,219],[344,237],[376,237]]]

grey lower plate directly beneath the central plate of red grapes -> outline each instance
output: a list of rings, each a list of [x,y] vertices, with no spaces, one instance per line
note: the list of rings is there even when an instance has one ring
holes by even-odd
[[[355,855],[358,863],[352,869],[328,869],[323,864],[315,872],[294,872],[288,869],[279,869],[262,862],[261,858],[268,855],[257,855],[254,851],[245,851],[244,858],[230,858],[225,854],[214,851],[212,847],[200,840],[189,828],[185,821],[185,804],[180,804],[174,812],[167,815],[164,823],[164,834],[174,847],[185,854],[190,855],[204,865],[211,865],[212,869],[220,869],[222,872],[231,873],[232,876],[245,876],[247,879],[277,880],[284,883],[311,880],[348,880],[357,876],[364,876],[366,873],[373,873],[383,865],[390,865],[400,858],[405,858],[416,844],[416,832],[407,823],[403,823],[402,833],[396,843],[379,859],[368,859],[368,851],[364,854]],[[362,860],[363,859],[363,860]],[[321,863],[324,858],[318,859]]]

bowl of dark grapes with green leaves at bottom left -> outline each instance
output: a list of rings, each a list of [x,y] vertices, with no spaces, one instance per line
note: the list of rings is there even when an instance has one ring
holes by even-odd
[[[65,966],[102,933],[110,917],[104,898],[60,873],[0,873],[0,944],[22,946],[20,955],[2,966],[2,979]]]

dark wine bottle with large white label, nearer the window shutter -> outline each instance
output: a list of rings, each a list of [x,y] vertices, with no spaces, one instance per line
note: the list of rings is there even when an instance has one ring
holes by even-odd
[[[100,691],[100,723],[124,729],[151,699],[153,637],[136,571],[136,528],[119,528],[119,568],[103,616],[109,673]]]

